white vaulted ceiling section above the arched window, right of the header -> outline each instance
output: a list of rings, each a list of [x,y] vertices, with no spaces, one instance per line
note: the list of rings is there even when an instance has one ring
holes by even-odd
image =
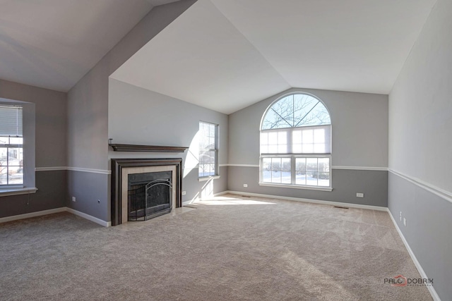
[[[388,94],[436,0],[198,0],[112,78],[222,113],[289,87]]]

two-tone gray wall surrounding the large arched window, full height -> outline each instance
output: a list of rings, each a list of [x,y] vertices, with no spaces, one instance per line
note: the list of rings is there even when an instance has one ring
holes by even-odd
[[[292,92],[322,100],[331,114],[333,191],[260,186],[259,135],[270,104]],[[388,193],[388,96],[290,89],[229,116],[228,190],[386,207]],[[248,187],[244,188],[244,184]],[[357,198],[356,193],[364,193]]]

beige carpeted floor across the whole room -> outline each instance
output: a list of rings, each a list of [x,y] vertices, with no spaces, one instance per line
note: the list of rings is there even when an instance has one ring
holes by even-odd
[[[0,300],[432,300],[383,283],[420,278],[386,212],[225,195],[177,213],[0,224]]]

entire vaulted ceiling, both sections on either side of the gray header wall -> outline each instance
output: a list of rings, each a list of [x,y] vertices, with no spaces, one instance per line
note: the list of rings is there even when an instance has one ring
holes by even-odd
[[[68,91],[174,0],[0,0],[0,78]],[[305,87],[388,94],[436,0],[198,0],[112,78],[222,113]]]

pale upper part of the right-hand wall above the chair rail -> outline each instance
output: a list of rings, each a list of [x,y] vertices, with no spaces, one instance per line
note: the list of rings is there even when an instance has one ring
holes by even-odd
[[[452,192],[452,1],[439,0],[389,95],[389,167]]]

